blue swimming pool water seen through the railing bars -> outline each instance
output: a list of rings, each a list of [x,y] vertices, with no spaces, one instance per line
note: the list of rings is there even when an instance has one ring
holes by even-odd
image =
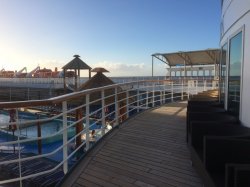
[[[44,118],[46,116],[40,116],[40,118]],[[19,120],[31,120],[31,119],[37,119],[37,116],[32,113],[25,113],[20,112],[18,113]],[[74,119],[68,119],[68,125],[72,124]],[[2,123],[8,123],[9,122],[9,115],[6,111],[0,111],[0,124]],[[94,124],[94,121],[91,122],[93,124],[90,129],[100,129],[101,125]],[[62,129],[62,120],[61,119],[54,119],[52,121],[45,122],[41,124],[41,134],[43,136],[48,136],[51,134],[54,134]],[[15,134],[13,136],[12,131],[9,130],[0,130],[0,142],[8,142],[17,140],[17,133],[18,131],[15,131]],[[29,126],[27,128],[20,129],[20,134],[22,138],[34,138],[37,137],[37,125],[34,124],[33,126]],[[71,127],[68,129],[68,137],[71,138],[75,135],[75,127]],[[73,143],[73,142],[72,142]],[[44,139],[42,140],[42,153],[49,153],[54,151],[56,148],[62,145],[62,135],[57,135],[52,138]],[[17,145],[13,145],[17,147]],[[25,153],[38,153],[38,146],[37,141],[27,142],[20,145],[22,147],[22,152]],[[72,151],[72,149],[69,148],[69,153]],[[56,154],[49,156],[48,158],[51,158],[56,161],[62,160],[62,151],[57,152]]]

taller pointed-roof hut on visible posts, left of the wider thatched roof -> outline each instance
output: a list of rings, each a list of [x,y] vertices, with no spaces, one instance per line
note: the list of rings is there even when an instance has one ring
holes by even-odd
[[[91,77],[91,67],[88,66],[85,62],[83,62],[79,57],[79,55],[74,55],[74,59],[71,60],[68,64],[66,64],[65,66],[62,67],[63,69],[63,73],[64,73],[64,90],[66,90],[66,71],[68,69],[73,69],[75,70],[75,90],[77,90],[77,76],[80,77],[80,70],[81,69],[88,69],[89,70],[89,79]],[[78,70],[78,71],[77,71]]]

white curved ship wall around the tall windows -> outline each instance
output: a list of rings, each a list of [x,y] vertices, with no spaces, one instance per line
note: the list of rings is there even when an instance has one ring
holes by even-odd
[[[224,0],[222,20],[224,35],[221,46],[244,28],[240,120],[250,127],[250,0]]]

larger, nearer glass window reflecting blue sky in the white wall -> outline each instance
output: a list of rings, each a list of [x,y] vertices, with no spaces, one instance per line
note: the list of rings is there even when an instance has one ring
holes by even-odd
[[[242,32],[229,42],[228,111],[239,117],[242,64]]]

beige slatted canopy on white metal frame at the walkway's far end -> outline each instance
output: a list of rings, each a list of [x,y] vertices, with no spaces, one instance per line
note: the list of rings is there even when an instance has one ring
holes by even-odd
[[[170,67],[183,65],[186,77],[186,66],[217,65],[220,59],[220,49],[206,49],[197,51],[179,51],[174,53],[152,54],[152,76],[154,76],[154,58]],[[171,74],[171,72],[170,72]]]

